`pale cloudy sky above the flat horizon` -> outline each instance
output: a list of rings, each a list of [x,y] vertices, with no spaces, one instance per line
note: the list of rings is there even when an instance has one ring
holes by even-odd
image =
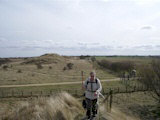
[[[0,0],[0,57],[160,55],[160,0]]]

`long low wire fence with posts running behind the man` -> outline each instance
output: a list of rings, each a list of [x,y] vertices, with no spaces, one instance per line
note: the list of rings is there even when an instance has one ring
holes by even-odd
[[[132,92],[139,92],[139,91],[148,91],[149,88],[143,85],[135,85],[135,86],[124,86],[124,87],[114,87],[114,88],[103,88],[102,94],[107,95],[112,91],[112,94],[119,94],[119,93],[132,93]],[[53,93],[61,92],[62,90],[49,90],[49,91],[14,91],[14,90],[7,90],[7,91],[0,91],[0,98],[10,98],[10,97],[38,97],[38,96],[51,96]],[[66,89],[66,91],[73,96],[81,97],[83,96],[84,91],[81,89]]]

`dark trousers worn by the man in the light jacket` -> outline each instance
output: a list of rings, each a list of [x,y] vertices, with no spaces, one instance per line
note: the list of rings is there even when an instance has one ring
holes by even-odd
[[[87,112],[86,112],[87,116],[90,117],[91,113],[93,115],[97,114],[97,99],[90,100],[86,98],[86,105],[87,105]]]

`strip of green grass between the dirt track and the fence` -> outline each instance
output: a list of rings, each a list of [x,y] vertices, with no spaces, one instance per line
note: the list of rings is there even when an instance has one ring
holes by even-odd
[[[105,92],[109,92],[109,89],[116,88],[125,88],[125,86],[120,81],[109,81],[102,82],[102,88]],[[43,95],[50,95],[52,93],[56,93],[59,91],[68,91],[72,94],[83,95],[84,90],[82,89],[81,84],[71,84],[71,85],[49,85],[49,86],[33,86],[33,87],[10,87],[10,88],[0,88],[0,96],[12,96],[12,92],[14,92],[15,96],[27,96],[30,95],[31,92],[33,95],[40,95],[41,92]],[[3,94],[3,95],[2,95]]]

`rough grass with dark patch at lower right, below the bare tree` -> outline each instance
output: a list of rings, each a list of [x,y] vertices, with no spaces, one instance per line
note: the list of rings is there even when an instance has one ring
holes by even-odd
[[[141,120],[157,120],[152,110],[158,105],[149,92],[121,93],[113,95],[113,105],[121,112],[138,116]],[[158,111],[157,111],[158,112]]]

